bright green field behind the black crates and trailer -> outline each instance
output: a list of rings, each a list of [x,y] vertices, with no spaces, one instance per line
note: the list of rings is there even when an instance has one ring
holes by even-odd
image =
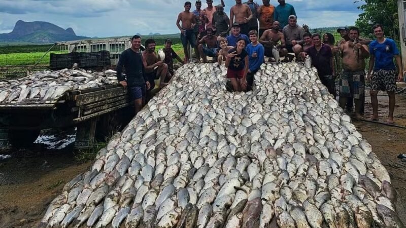
[[[51,46],[47,46],[46,51]],[[38,47],[35,47],[37,49]],[[163,48],[163,45],[156,46],[156,50]],[[175,44],[172,46],[174,51],[183,59],[183,48],[181,44]],[[0,48],[1,50],[1,48]],[[28,50],[30,51],[30,50]],[[42,52],[21,52],[21,53],[10,53],[10,54],[0,54],[0,66],[21,66],[21,65],[33,65],[36,64],[46,53],[46,51]],[[55,54],[63,54],[67,53],[67,51],[51,51],[48,52],[44,58],[39,62],[41,65],[48,65],[49,64],[49,56],[50,53]]]

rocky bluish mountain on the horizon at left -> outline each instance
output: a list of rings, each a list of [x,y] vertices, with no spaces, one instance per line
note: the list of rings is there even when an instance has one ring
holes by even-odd
[[[87,39],[76,35],[72,28],[63,29],[57,25],[44,21],[17,21],[13,31],[0,33],[2,43],[35,43],[48,44],[57,41],[75,41]]]

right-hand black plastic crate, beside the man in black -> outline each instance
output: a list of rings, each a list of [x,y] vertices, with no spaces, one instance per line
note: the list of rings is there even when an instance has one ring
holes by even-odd
[[[95,67],[95,66],[110,66],[110,52],[98,51],[98,52],[81,52],[79,67]]]

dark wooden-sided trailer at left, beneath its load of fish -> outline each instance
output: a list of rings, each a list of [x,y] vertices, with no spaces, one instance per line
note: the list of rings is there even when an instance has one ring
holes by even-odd
[[[98,134],[132,113],[127,90],[120,85],[66,92],[46,104],[0,105],[0,147],[26,146],[41,129],[76,127],[76,148],[91,148]]]

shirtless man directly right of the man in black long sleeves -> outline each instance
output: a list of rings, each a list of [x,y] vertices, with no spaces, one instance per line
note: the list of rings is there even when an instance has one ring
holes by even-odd
[[[145,41],[146,50],[143,52],[143,63],[145,68],[145,73],[147,74],[148,82],[151,87],[148,89],[148,97],[151,98],[150,91],[155,88],[155,79],[160,78],[159,87],[166,86],[164,83],[166,73],[168,71],[168,65],[163,63],[162,60],[158,60],[158,57],[155,53],[156,43],[152,39]]]

